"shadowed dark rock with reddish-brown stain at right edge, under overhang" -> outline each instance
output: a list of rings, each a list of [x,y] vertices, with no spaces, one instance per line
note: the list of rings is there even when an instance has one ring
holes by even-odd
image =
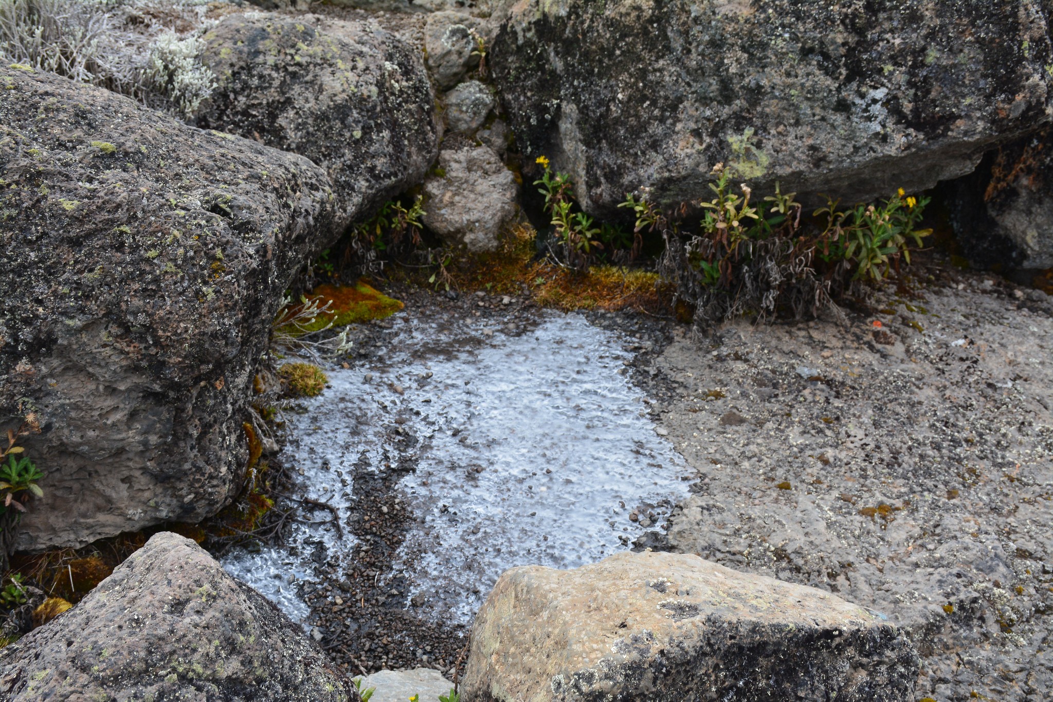
[[[948,184],[961,253],[981,268],[1053,267],[1053,138],[1050,128],[1005,144]]]

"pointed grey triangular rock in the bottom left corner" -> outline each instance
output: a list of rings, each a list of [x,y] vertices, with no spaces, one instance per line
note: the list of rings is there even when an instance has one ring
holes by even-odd
[[[73,609],[0,649],[5,700],[357,699],[299,625],[162,531]]]

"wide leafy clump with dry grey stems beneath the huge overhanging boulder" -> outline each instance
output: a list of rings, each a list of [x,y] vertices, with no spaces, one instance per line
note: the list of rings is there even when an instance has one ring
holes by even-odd
[[[816,210],[826,218],[817,228],[801,222],[795,193],[775,193],[758,203],[750,186],[733,181],[763,173],[766,157],[752,144],[750,131],[733,140],[739,159],[717,164],[711,197],[697,203],[701,221],[694,233],[681,232],[647,194],[627,195],[620,206],[633,210],[636,232],[659,230],[665,239],[661,273],[677,286],[677,298],[694,306],[697,322],[741,315],[766,318],[788,309],[797,318],[832,307],[834,295],[862,280],[878,281],[930,229],[916,228],[928,198],[907,197],[900,189],[882,203],[839,210],[837,203]],[[743,163],[746,166],[743,166]],[[681,215],[683,208],[681,208]]]

